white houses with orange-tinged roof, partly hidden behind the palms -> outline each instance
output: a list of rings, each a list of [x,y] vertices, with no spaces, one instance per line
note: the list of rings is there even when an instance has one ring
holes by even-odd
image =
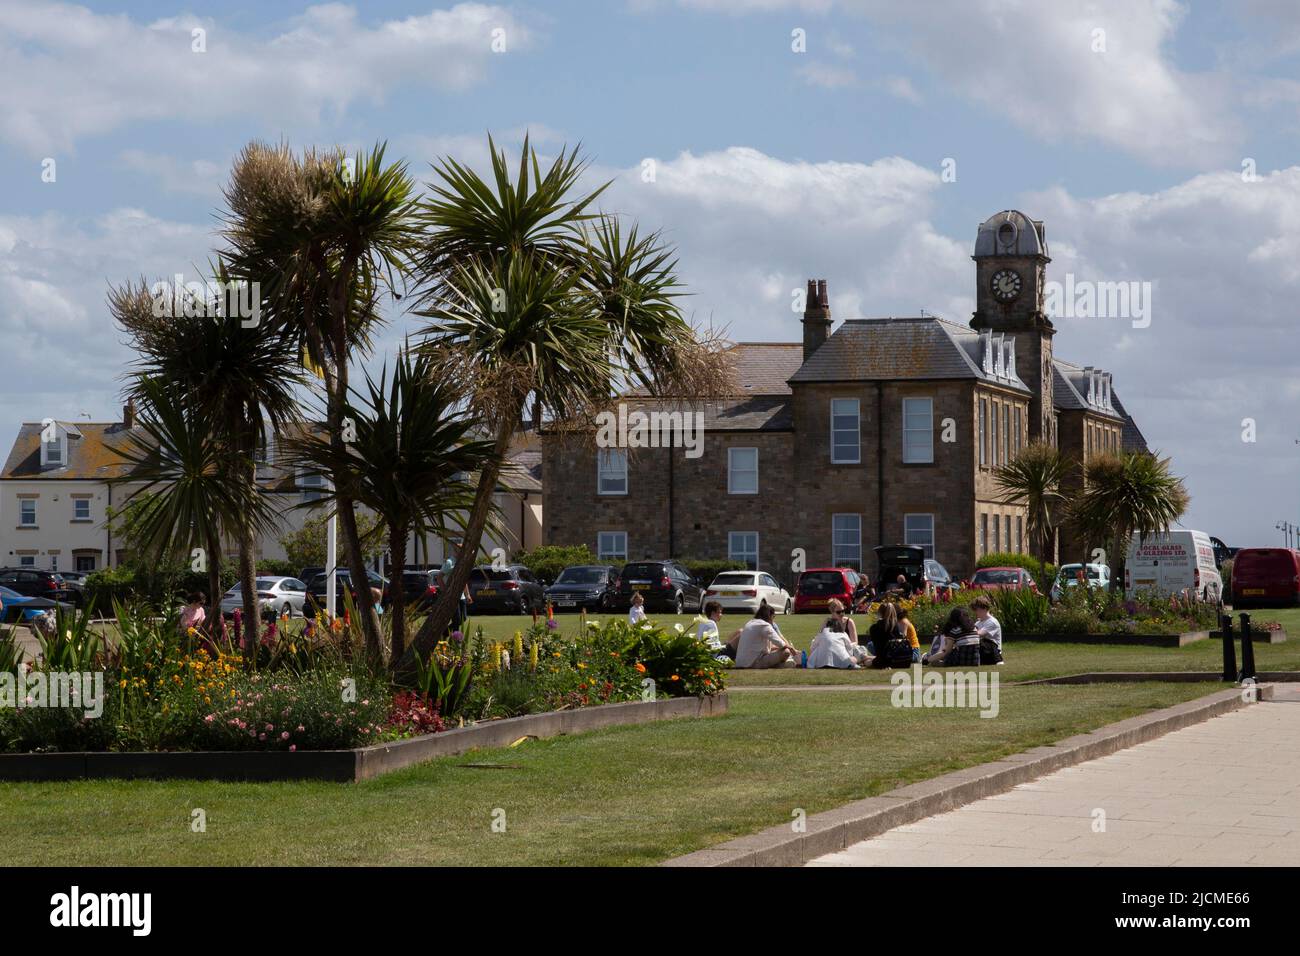
[[[96,571],[126,559],[125,544],[109,527],[109,509],[120,510],[139,485],[117,484],[129,475],[121,457],[135,428],[130,406],[122,421],[25,423],[18,429],[4,470],[0,471],[0,564],[52,571]],[[48,441],[43,441],[44,437]],[[139,434],[139,432],[135,432]],[[274,444],[272,444],[274,449]],[[296,531],[313,514],[298,507],[320,494],[320,476],[285,468],[274,460],[259,467],[266,494],[274,496],[282,525],[259,542],[259,558],[286,557],[280,538]],[[512,446],[499,483],[497,505],[503,540],[484,546],[514,553],[542,542],[541,451],[532,433],[521,433]],[[235,549],[228,542],[228,557]],[[447,546],[436,538],[407,555],[408,563],[441,563]]]

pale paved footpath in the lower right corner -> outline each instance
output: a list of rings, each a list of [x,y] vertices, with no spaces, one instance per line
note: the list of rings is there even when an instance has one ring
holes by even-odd
[[[1287,689],[1290,700],[1058,770],[809,866],[1300,865],[1300,695]]]

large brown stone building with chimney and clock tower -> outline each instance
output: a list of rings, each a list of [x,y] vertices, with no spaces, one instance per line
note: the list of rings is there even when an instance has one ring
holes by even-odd
[[[1024,511],[998,502],[996,467],[1040,438],[1079,460],[1145,442],[1110,373],[1052,352],[1043,224],[1000,212],[972,258],[970,325],[835,328],[826,280],[810,280],[801,343],[737,345],[734,397],[675,406],[702,415],[698,457],[543,436],[546,542],[611,559],[731,557],[786,584],[796,549],[806,567],[870,572],[874,546],[915,544],[958,578],[983,554],[1026,551]],[[1062,559],[1078,550],[1061,541]]]

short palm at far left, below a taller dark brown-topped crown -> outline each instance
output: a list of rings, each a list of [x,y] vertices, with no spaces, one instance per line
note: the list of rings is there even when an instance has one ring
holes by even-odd
[[[221,600],[222,533],[250,518],[259,532],[276,524],[269,501],[230,467],[220,423],[204,408],[185,401],[174,382],[140,376],[130,388],[138,407],[136,431],[121,457],[130,466],[120,483],[136,485],[127,502],[139,502],[131,515],[131,537],[143,557],[188,557],[203,548],[207,558],[208,600]]]

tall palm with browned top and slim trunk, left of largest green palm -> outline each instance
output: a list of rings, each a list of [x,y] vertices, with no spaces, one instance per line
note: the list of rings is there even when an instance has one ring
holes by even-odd
[[[225,198],[224,237],[231,272],[260,284],[268,321],[294,336],[322,369],[326,434],[344,460],[348,363],[369,350],[382,321],[380,302],[396,294],[416,238],[415,186],[406,164],[385,165],[384,144],[352,160],[341,151],[252,143],[237,157]],[[346,475],[332,475],[346,488]],[[356,510],[335,497],[352,580],[365,580]],[[358,610],[372,659],[381,653],[380,622],[367,588]]]

